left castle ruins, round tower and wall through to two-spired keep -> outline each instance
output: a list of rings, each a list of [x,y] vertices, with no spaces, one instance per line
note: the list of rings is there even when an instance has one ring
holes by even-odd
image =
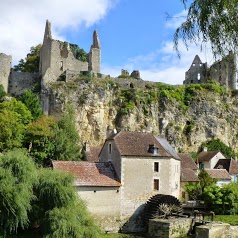
[[[0,53],[0,84],[11,95],[18,96],[24,90],[32,89],[38,82],[41,84],[41,101],[43,109],[48,111],[48,89],[50,83],[56,82],[60,75],[80,74],[81,72],[100,73],[101,47],[96,31],[93,33],[86,62],[75,58],[67,42],[54,40],[51,35],[51,24],[47,20],[45,34],[40,52],[39,73],[16,72],[11,68],[12,56]]]

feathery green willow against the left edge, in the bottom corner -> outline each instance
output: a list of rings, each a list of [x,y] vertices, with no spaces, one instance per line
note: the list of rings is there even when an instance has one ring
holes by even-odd
[[[0,233],[17,233],[28,227],[36,168],[20,149],[0,156]]]

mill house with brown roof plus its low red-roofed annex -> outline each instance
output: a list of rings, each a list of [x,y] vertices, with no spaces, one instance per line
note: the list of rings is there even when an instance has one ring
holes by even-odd
[[[141,231],[150,197],[179,197],[180,157],[150,133],[121,131],[106,139],[99,162],[53,161],[53,168],[76,176],[79,196],[107,231]]]

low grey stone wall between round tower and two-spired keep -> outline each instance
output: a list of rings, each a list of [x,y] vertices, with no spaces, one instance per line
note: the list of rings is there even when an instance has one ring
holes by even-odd
[[[38,82],[38,73],[16,72],[14,70],[11,70],[8,92],[13,96],[19,96],[25,90],[32,90]]]

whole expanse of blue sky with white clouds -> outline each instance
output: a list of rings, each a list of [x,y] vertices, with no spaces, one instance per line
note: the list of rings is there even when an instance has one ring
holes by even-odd
[[[180,0],[31,0],[1,3],[0,53],[24,58],[42,43],[45,21],[53,38],[89,51],[96,29],[101,42],[102,73],[118,76],[121,69],[140,70],[148,81],[182,84],[196,54],[211,64],[209,48],[181,44],[181,58],[173,50],[173,34],[185,16]],[[168,13],[172,18],[167,18]],[[4,33],[4,34],[3,34]]]

